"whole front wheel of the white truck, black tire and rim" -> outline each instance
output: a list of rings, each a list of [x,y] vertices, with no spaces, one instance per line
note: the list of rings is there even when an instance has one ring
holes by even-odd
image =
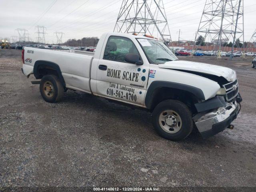
[[[154,108],[152,122],[160,136],[172,141],[186,138],[193,130],[192,115],[189,108],[177,100],[160,102]]]

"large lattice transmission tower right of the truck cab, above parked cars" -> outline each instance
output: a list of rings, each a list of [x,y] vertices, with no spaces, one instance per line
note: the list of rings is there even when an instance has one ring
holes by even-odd
[[[233,42],[233,47],[244,46],[244,6],[242,0],[206,0],[194,43],[201,45],[206,38],[221,49],[224,42]]]

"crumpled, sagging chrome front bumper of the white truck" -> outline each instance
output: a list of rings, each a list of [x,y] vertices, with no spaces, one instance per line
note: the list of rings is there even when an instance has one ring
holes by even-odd
[[[239,99],[234,99],[232,102],[226,103],[225,106],[201,112],[194,116],[193,119],[196,127],[203,138],[208,138],[222,132],[236,119],[240,111],[238,101],[242,100],[239,94],[238,97]]]

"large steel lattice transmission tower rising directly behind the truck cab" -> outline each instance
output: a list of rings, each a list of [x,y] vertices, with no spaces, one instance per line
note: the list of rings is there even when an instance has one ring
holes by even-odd
[[[168,45],[171,41],[162,0],[123,0],[114,32],[159,36]]]

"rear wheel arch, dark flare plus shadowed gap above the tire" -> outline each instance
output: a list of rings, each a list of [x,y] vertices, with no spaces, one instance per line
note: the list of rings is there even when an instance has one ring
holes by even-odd
[[[45,75],[56,75],[59,79],[61,84],[66,87],[66,83],[60,71],[60,67],[53,62],[48,61],[36,61],[34,64],[34,76],[36,79],[42,79]]]

